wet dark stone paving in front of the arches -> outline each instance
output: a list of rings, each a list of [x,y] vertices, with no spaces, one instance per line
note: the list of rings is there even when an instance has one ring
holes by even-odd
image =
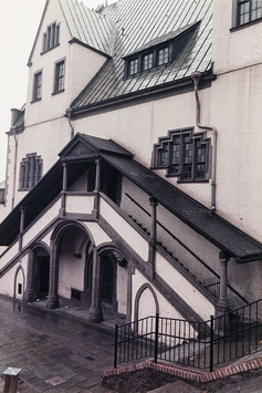
[[[113,335],[2,296],[0,321],[0,375],[22,369],[19,392],[112,392],[99,376],[113,368]]]

